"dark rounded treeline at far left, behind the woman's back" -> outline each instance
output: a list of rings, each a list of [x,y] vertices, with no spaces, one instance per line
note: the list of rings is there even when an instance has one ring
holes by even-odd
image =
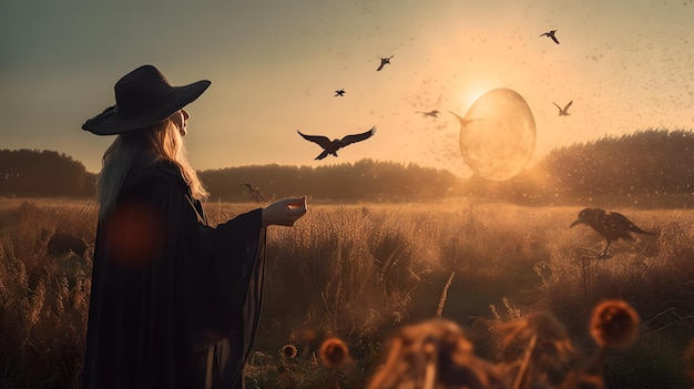
[[[54,151],[0,150],[0,194],[91,196],[96,175],[71,156]]]

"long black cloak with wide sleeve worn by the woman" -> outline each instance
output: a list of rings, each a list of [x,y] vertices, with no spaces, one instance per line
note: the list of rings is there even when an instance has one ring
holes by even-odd
[[[259,208],[211,227],[176,165],[132,170],[99,221],[83,387],[243,388],[264,253]]]

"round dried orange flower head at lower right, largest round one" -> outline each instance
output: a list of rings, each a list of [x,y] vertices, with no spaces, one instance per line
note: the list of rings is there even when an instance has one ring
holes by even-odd
[[[623,300],[604,300],[595,306],[591,336],[602,348],[626,348],[639,335],[639,314]]]

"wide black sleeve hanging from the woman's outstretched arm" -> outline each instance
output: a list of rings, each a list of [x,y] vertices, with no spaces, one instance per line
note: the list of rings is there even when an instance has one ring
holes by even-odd
[[[204,366],[205,387],[232,387],[243,380],[261,314],[265,229],[261,209],[212,228],[191,231],[186,264],[191,340]],[[214,382],[214,383],[213,383]]]

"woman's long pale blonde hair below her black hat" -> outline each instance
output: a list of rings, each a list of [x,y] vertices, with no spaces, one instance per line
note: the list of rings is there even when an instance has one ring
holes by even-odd
[[[115,206],[123,181],[133,166],[147,168],[166,160],[181,168],[194,198],[204,199],[210,195],[187,161],[178,125],[165,119],[150,129],[118,135],[106,149],[98,182],[99,218],[103,219]]]

